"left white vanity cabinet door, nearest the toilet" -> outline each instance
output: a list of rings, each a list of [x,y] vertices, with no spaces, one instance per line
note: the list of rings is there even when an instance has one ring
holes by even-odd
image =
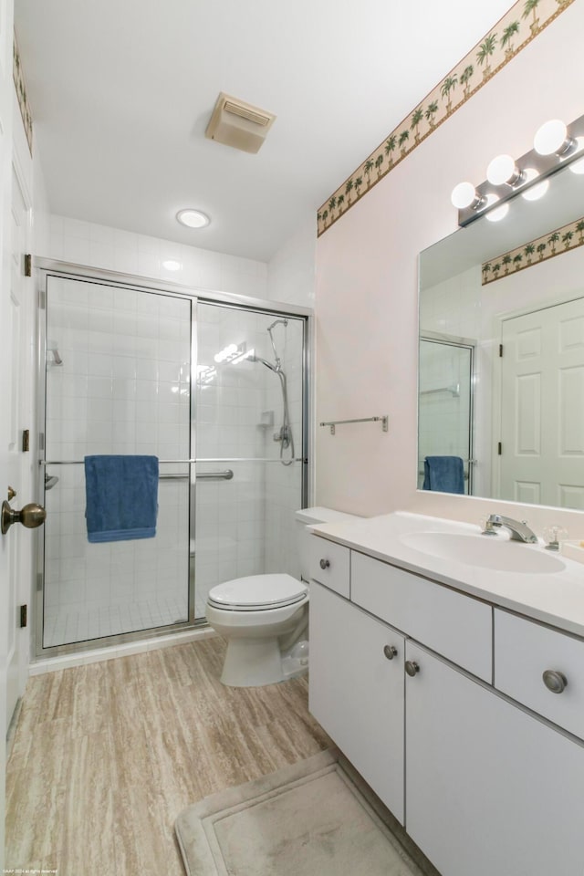
[[[390,627],[311,582],[310,711],[401,823],[403,647]]]

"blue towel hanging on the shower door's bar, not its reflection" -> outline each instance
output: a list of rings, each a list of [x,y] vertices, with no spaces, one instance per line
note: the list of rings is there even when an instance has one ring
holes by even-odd
[[[156,456],[86,456],[85,494],[90,542],[156,535]]]

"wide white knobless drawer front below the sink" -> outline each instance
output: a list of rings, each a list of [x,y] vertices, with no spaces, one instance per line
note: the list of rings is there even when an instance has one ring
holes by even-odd
[[[492,609],[356,551],[351,600],[485,682],[492,681]]]

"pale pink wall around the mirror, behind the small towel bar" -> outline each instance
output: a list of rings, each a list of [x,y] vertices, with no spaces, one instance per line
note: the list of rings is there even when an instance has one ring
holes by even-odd
[[[376,423],[334,436],[317,427],[319,505],[471,521],[492,510],[480,499],[416,492],[417,258],[454,232],[455,183],[483,182],[500,152],[524,154],[543,121],[581,115],[583,31],[584,4],[576,2],[318,239],[317,421],[390,417],[387,434]],[[536,527],[550,518],[533,506],[507,510]],[[584,516],[553,516],[584,536]]]

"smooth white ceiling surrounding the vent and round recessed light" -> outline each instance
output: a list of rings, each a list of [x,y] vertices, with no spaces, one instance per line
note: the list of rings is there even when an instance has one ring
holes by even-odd
[[[50,210],[268,261],[510,5],[16,0]],[[220,91],[276,114],[257,154],[204,137]]]

